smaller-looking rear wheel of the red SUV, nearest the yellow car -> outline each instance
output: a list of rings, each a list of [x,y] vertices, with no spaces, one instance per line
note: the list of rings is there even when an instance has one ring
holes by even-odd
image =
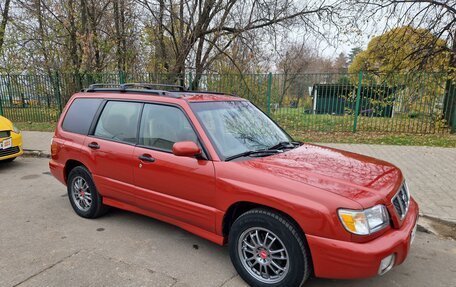
[[[83,166],[77,166],[70,171],[67,191],[71,206],[81,217],[97,218],[108,211],[95,187],[92,175]]]

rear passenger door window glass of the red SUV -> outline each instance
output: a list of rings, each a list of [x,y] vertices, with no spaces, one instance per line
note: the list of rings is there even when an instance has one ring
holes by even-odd
[[[136,143],[141,103],[110,101],[98,120],[94,135],[101,138]]]

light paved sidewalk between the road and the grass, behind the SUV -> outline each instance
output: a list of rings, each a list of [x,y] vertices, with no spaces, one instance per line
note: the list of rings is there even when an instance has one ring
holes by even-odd
[[[49,154],[53,133],[23,132],[24,149]],[[404,172],[424,215],[456,222],[456,148],[322,144],[389,161]]]

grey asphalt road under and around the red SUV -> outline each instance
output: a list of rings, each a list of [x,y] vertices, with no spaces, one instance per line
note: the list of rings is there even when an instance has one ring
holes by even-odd
[[[226,247],[113,210],[78,217],[47,160],[0,164],[0,286],[245,286]],[[382,277],[306,286],[456,286],[456,241],[418,232],[407,261]]]

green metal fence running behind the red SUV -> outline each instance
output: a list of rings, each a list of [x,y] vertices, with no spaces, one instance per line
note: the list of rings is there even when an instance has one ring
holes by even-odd
[[[309,131],[449,133],[456,85],[445,73],[204,74],[124,72],[0,75],[0,115],[56,121],[70,96],[93,83],[181,84],[252,101],[294,135]]]

